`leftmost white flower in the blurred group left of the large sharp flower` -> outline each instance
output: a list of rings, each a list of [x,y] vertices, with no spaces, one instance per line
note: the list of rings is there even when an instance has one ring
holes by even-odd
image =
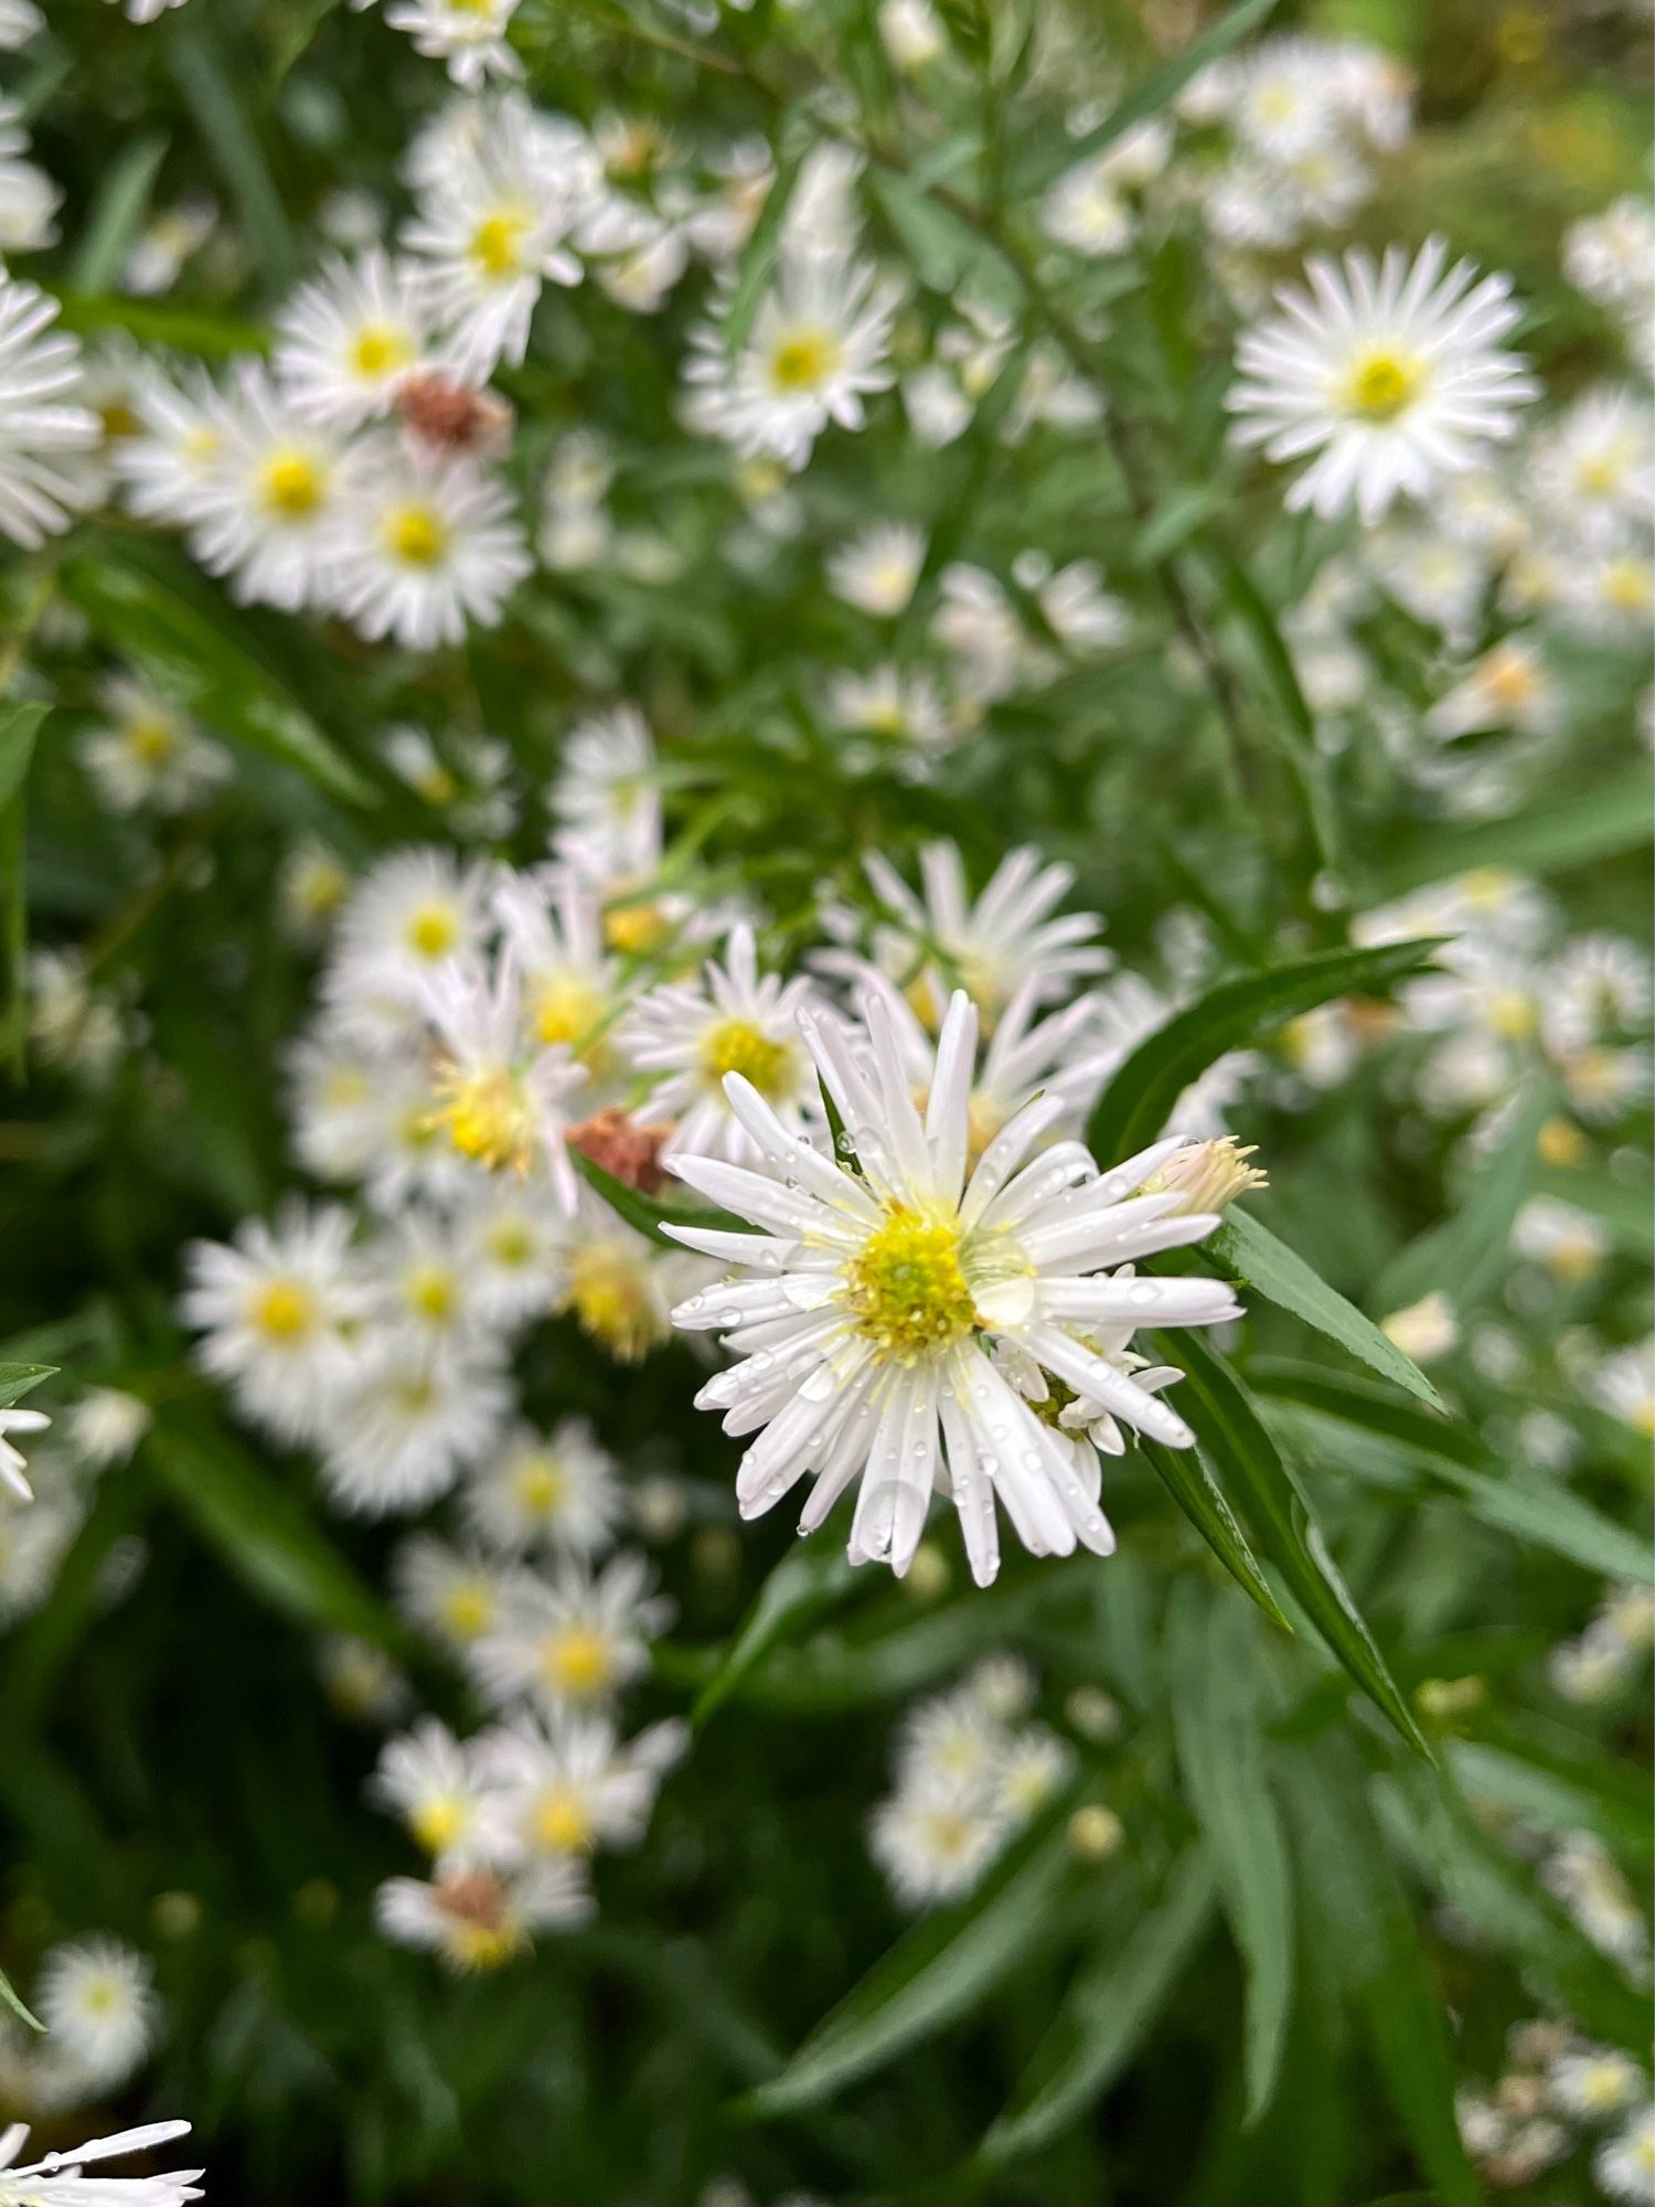
[[[203,1368],[280,1439],[313,1437],[355,1368],[351,1214],[289,1196],[274,1225],[249,1218],[234,1245],[192,1243],[188,1271],[181,1311],[203,1335]]]

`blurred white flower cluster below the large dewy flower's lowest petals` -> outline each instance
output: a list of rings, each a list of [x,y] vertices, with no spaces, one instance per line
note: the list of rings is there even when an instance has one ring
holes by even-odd
[[[989,1655],[903,1719],[896,1788],[869,1823],[874,1861],[903,1907],[969,1894],[1064,1781],[1068,1750],[1028,1721],[1033,1699],[1026,1664]]]

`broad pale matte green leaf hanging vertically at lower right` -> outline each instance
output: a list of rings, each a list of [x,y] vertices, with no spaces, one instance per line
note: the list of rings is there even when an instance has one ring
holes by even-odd
[[[1293,1883],[1269,1794],[1249,1613],[1185,1580],[1167,1613],[1172,1726],[1183,1790],[1218,1872],[1247,1971],[1247,2121],[1269,2105],[1293,2004]]]

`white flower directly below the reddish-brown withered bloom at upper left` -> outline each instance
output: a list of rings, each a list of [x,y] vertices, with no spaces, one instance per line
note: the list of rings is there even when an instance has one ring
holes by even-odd
[[[470,459],[395,439],[353,452],[329,530],[329,596],[362,636],[408,651],[457,644],[468,620],[499,625],[532,567],[508,490]]]

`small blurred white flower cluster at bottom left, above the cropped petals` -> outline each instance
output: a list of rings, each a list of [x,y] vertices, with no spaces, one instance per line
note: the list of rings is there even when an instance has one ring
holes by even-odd
[[[150,1964],[115,1938],[64,1940],[49,1949],[31,2008],[44,2035],[7,2017],[0,2037],[0,2097],[29,2114],[106,2099],[137,2075],[154,2046]]]

